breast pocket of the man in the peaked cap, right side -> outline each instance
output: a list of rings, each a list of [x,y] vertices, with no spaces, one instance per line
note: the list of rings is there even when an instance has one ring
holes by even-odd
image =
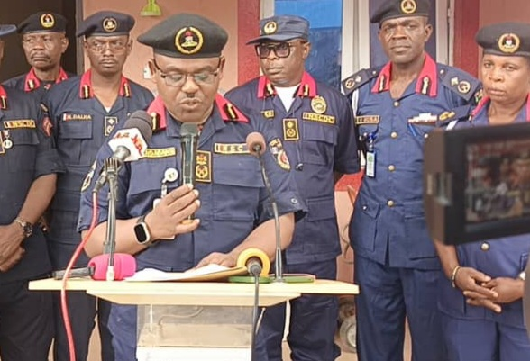
[[[305,163],[321,166],[333,165],[337,128],[314,122],[304,122],[304,139],[301,157]]]

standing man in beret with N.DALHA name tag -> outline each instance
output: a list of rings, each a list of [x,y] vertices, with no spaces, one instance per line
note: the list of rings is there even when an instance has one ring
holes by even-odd
[[[123,125],[130,113],[147,108],[153,99],[148,89],[122,74],[133,46],[129,36],[133,25],[134,19],[129,14],[105,11],[88,16],[79,24],[77,35],[84,37],[83,48],[90,68],[80,77],[53,86],[42,101],[49,115],[47,130],[55,138],[59,157],[67,168],[58,178],[57,194],[51,205],[49,248],[54,269],[64,269],[68,265],[81,241],[76,229],[80,190],[87,187],[83,183],[87,174],[93,174],[91,166],[97,149]],[[78,266],[86,266],[87,261],[83,254]],[[69,360],[69,347],[59,298],[56,303],[54,359],[65,361]],[[96,302],[96,298],[86,293],[69,293],[69,310],[76,359],[87,360],[97,312],[101,359],[114,360],[107,329],[109,303]]]

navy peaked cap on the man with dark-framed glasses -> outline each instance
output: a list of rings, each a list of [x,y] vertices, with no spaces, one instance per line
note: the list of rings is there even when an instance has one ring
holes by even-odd
[[[260,36],[248,41],[255,44],[262,41],[309,40],[309,22],[300,16],[271,16],[260,21]]]

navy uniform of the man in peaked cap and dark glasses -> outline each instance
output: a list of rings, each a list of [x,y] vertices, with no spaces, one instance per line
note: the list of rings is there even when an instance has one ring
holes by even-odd
[[[359,171],[352,107],[348,99],[308,73],[286,110],[274,86],[259,77],[238,86],[226,97],[234,104],[259,110],[282,134],[306,217],[296,224],[285,251],[285,272],[310,273],[336,279],[336,257],[341,252],[334,204],[334,172]],[[340,354],[334,346],[338,304],[336,297],[302,296],[291,303],[289,346],[297,360],[331,360]],[[270,307],[261,321],[258,342],[267,345],[269,359],[281,360],[285,304]]]

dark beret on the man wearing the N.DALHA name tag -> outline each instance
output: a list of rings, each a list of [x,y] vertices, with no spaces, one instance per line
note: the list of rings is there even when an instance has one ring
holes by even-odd
[[[134,18],[129,14],[101,11],[92,14],[79,24],[76,36],[129,35],[134,26]]]

